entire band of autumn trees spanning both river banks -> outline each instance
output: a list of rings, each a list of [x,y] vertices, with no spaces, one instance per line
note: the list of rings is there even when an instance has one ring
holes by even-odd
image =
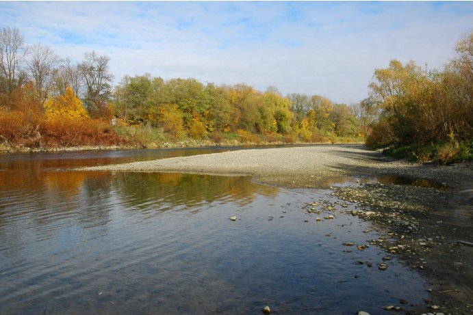
[[[261,92],[151,74],[112,86],[110,57],[73,62],[48,46],[0,32],[0,142],[10,146],[146,144],[183,139],[257,143],[361,139],[392,154],[448,163],[471,158],[473,34],[457,57],[428,70],[392,60],[374,70],[367,98],[337,104],[318,95]],[[144,137],[143,137],[144,136]]]

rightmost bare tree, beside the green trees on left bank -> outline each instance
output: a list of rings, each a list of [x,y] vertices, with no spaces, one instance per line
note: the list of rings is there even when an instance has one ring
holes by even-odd
[[[86,83],[86,107],[96,117],[110,115],[108,101],[110,98],[110,83],[113,75],[108,63],[110,57],[97,55],[95,51],[85,54],[85,59],[79,65],[80,72]]]

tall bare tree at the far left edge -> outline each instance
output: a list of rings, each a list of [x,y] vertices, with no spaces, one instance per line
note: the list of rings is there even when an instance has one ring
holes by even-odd
[[[21,62],[27,54],[25,40],[20,31],[10,27],[3,27],[0,31],[0,75],[5,79],[8,92],[14,90],[15,85],[19,85],[21,76]]]

